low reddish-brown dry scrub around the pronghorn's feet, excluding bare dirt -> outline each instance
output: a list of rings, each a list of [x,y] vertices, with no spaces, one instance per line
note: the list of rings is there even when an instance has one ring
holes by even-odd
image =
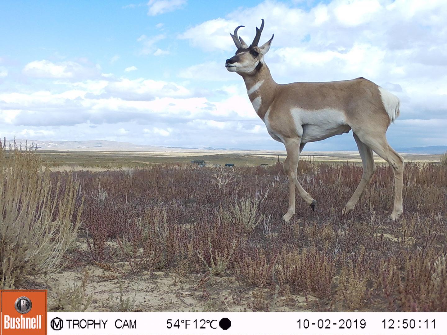
[[[69,255],[77,271],[97,266],[131,283],[161,270],[172,285],[199,276],[194,291],[202,292],[205,310],[228,309],[209,290],[225,289],[219,278],[231,277],[253,289],[252,310],[274,310],[289,298],[289,306],[298,306],[291,297],[302,295],[316,297],[307,301],[311,310],[447,311],[445,166],[406,164],[405,213],[397,222],[388,219],[389,167],[378,167],[347,216],[341,210],[361,167],[300,162],[299,171],[318,207],[312,212],[298,199],[287,224],[281,164],[226,170],[158,164],[132,172],[51,172],[50,179],[79,183],[75,209],[85,199],[86,245]],[[239,301],[236,293],[232,299]]]

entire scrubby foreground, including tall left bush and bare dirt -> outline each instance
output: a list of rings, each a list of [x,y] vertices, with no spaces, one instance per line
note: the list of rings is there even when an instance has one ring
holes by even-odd
[[[13,260],[0,286],[46,288],[50,310],[447,311],[444,165],[405,165],[405,212],[392,222],[388,166],[344,216],[362,168],[300,162],[316,211],[298,199],[284,223],[282,163],[42,172],[38,154],[2,151],[0,160],[0,189],[11,190],[1,193],[0,247]],[[30,254],[39,236],[55,244]],[[24,250],[28,262],[52,261],[11,265]]]

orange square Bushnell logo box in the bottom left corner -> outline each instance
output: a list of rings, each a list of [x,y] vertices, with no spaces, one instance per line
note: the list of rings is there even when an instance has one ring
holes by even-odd
[[[0,290],[1,335],[46,335],[46,289]]]

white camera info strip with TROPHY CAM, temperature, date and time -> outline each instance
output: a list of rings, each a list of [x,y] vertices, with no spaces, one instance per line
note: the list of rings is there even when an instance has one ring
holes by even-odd
[[[447,334],[447,312],[52,312],[48,334]]]

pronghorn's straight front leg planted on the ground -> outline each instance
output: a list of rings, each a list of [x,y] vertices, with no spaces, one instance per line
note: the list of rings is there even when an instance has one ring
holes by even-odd
[[[296,179],[296,171],[299,161],[299,145],[301,138],[287,138],[284,145],[286,146],[287,158],[284,161],[284,172],[289,179],[289,209],[284,214],[284,221],[289,221],[295,215],[295,187],[298,180]]]

